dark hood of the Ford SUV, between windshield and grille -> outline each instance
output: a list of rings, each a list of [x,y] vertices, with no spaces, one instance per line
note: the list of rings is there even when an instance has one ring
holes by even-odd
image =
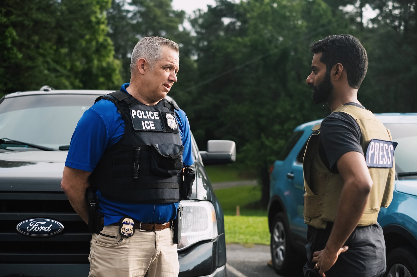
[[[0,153],[0,190],[62,191],[67,154],[68,151]]]

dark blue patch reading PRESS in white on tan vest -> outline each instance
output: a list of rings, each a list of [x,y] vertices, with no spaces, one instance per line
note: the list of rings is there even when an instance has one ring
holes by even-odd
[[[367,166],[392,168],[394,163],[394,150],[397,144],[395,141],[383,141],[372,138],[365,155]]]

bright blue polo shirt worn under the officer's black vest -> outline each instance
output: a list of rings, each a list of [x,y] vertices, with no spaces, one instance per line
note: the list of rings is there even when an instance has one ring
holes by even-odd
[[[123,84],[121,91],[128,94]],[[194,163],[191,147],[191,131],[187,116],[183,110],[175,110],[178,129],[184,146],[183,162]],[[75,127],[65,166],[93,172],[106,148],[114,145],[123,136],[125,122],[117,111],[116,105],[107,99],[101,99],[86,110]],[[119,222],[122,216],[144,223],[166,223],[176,218],[178,203],[143,204],[105,198],[100,190],[96,192],[99,211],[104,215],[104,224]]]

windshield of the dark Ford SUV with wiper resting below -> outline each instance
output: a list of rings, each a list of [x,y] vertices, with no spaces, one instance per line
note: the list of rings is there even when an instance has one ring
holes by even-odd
[[[6,98],[0,104],[1,137],[58,150],[70,144],[78,120],[97,97],[50,94]]]

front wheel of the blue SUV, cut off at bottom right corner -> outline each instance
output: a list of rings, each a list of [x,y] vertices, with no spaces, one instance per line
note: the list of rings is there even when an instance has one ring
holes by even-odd
[[[387,272],[384,277],[417,276],[417,254],[411,247],[398,247],[387,255]]]

